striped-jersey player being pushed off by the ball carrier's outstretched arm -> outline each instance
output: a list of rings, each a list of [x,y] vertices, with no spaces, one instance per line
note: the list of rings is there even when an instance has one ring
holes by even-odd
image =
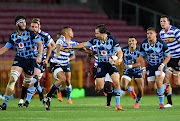
[[[50,60],[51,70],[56,82],[51,87],[49,93],[44,98],[44,105],[46,110],[50,110],[50,102],[52,94],[55,92],[62,83],[66,82],[67,91],[67,103],[73,104],[71,100],[71,67],[69,61],[75,59],[75,53],[72,49],[66,49],[67,47],[78,44],[71,40],[73,38],[73,31],[71,27],[64,27],[61,31],[63,36],[56,42],[56,53]]]

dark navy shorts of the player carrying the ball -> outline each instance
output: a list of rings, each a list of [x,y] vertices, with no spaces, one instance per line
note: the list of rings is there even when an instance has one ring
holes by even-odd
[[[117,66],[112,66],[109,62],[99,62],[96,72],[96,78],[105,77],[107,73],[111,76],[113,73],[117,73],[118,68]]]

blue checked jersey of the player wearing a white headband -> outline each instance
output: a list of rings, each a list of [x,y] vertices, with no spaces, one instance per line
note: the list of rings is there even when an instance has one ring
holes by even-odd
[[[40,41],[40,38],[29,29],[20,35],[15,31],[10,35],[6,47],[11,48],[15,45],[16,56],[35,59],[34,45],[37,41]]]

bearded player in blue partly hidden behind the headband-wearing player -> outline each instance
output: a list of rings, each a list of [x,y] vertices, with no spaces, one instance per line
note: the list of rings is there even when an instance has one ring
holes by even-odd
[[[26,98],[25,103],[24,103],[25,94],[23,94],[24,90],[22,90],[22,95],[21,95],[21,99],[20,99],[20,101],[18,103],[18,106],[19,107],[25,106],[26,108],[28,107],[31,98],[32,98],[33,94],[35,93],[36,87],[38,86],[38,81],[41,79],[41,77],[43,75],[43,72],[45,71],[45,67],[46,67],[45,65],[47,64],[47,62],[49,60],[49,57],[51,55],[51,44],[50,44],[50,41],[48,40],[48,37],[46,35],[44,35],[42,33],[39,33],[40,25],[36,21],[36,19],[33,19],[31,21],[30,29],[32,31],[34,31],[35,34],[38,35],[41,38],[41,42],[42,42],[42,44],[44,46],[43,48],[47,48],[47,50],[46,50],[47,51],[47,56],[46,57],[44,56],[45,55],[44,53],[46,53],[46,52],[44,52],[44,50],[43,50],[43,52],[42,52],[42,62],[35,64],[35,69],[34,69],[34,75],[35,76],[33,78],[34,84],[31,85],[31,87],[27,89],[28,92],[27,92],[27,98]],[[34,51],[36,53],[38,53],[37,48],[38,48],[38,45],[36,44],[34,46]],[[41,93],[40,93],[40,101],[43,101],[43,99],[44,99],[44,96],[43,96],[43,93],[41,91]]]

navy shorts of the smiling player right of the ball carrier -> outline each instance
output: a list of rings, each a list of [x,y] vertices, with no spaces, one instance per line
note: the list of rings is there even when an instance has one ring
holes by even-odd
[[[134,73],[126,71],[123,73],[121,78],[126,78],[131,81],[133,76],[135,80],[138,78],[142,78],[142,70],[136,71]]]

